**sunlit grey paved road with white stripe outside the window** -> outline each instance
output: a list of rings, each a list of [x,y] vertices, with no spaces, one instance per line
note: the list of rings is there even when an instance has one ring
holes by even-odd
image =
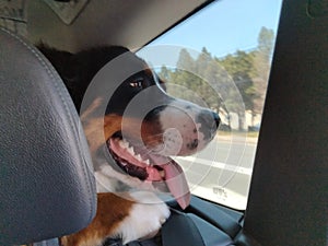
[[[245,209],[255,150],[255,141],[214,139],[197,155],[177,161],[185,169],[191,192]]]

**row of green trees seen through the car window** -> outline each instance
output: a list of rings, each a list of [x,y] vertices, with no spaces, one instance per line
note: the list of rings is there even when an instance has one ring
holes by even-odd
[[[167,83],[167,92],[176,97],[195,102],[197,96],[208,107],[226,116],[236,113],[242,129],[245,110],[251,112],[253,119],[257,114],[261,114],[273,39],[273,31],[262,27],[255,50],[249,52],[237,50],[220,59],[212,57],[206,47],[195,59],[186,49],[181,49],[177,69],[162,67],[160,75],[171,82]],[[231,80],[238,92],[232,86]],[[219,96],[216,92],[220,93]],[[239,95],[243,102],[238,99]]]

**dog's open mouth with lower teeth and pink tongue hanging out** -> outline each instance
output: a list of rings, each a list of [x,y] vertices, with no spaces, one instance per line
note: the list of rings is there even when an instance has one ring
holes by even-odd
[[[185,209],[190,191],[183,168],[171,157],[159,155],[142,144],[132,144],[120,133],[107,141],[116,164],[128,175],[147,181],[164,181],[178,204]]]

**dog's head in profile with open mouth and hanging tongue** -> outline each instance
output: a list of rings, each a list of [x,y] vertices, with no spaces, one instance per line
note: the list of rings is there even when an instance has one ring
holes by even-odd
[[[122,50],[125,54],[126,50]],[[202,150],[215,136],[219,116],[190,102],[171,97],[165,83],[148,65],[129,52],[126,66],[137,71],[118,81],[109,98],[92,101],[82,114],[86,138],[92,151],[104,139],[119,168],[143,181],[164,181],[178,203],[185,208],[190,195],[181,167],[169,156],[190,155]],[[115,83],[113,75],[106,83]],[[102,77],[104,78],[104,77]],[[106,78],[106,77],[105,77]],[[106,90],[105,90],[106,91]],[[95,134],[94,109],[106,104],[103,136]]]

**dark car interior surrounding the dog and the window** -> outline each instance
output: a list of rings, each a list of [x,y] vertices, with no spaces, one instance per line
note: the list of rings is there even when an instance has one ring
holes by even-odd
[[[0,245],[59,245],[96,212],[79,114],[35,45],[139,50],[214,2],[0,3]],[[327,30],[325,0],[282,2],[246,209],[172,202],[161,234],[129,246],[328,245]]]

